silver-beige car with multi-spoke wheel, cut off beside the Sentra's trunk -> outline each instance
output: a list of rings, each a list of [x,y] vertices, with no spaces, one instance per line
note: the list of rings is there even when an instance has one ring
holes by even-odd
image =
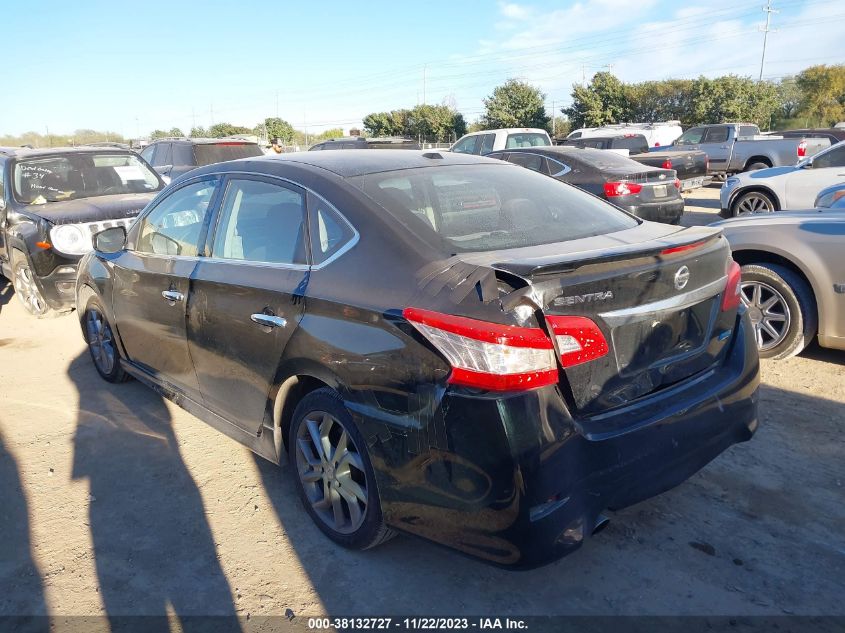
[[[818,335],[845,350],[845,211],[750,215],[718,222],[742,266],[761,358],[789,358]]]

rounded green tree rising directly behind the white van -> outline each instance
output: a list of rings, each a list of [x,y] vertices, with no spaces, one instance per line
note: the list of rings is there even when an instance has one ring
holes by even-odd
[[[625,121],[630,113],[629,90],[609,72],[593,75],[589,86],[572,87],[572,105],[561,108],[572,127],[598,127]]]

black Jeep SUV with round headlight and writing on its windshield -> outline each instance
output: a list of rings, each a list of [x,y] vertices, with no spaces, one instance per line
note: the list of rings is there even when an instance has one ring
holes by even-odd
[[[36,316],[71,308],[91,237],[128,227],[163,187],[129,150],[0,148],[0,273]]]

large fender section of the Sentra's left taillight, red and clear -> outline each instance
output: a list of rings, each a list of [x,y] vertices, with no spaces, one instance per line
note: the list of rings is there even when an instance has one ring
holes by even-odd
[[[402,315],[446,357],[448,382],[490,391],[535,389],[558,381],[554,347],[540,328],[500,325],[405,308]]]

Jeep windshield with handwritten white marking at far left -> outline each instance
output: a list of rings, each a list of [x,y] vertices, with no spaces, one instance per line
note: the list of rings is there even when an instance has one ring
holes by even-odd
[[[15,198],[24,204],[148,193],[162,187],[158,176],[134,154],[66,154],[19,161]]]

